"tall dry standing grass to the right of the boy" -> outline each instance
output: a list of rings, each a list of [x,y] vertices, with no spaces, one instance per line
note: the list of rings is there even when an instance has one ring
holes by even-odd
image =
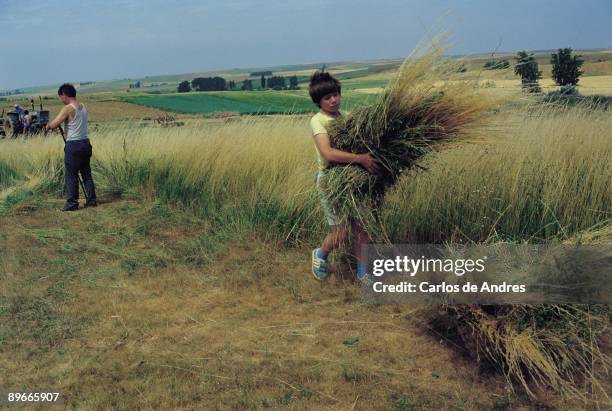
[[[394,241],[567,239],[612,216],[612,119],[588,107],[499,114],[486,141],[431,155],[387,196]]]

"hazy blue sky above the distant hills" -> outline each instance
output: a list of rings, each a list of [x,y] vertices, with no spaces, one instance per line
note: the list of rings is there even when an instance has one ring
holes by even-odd
[[[612,47],[612,0],[0,0],[0,89],[233,67]],[[13,41],[11,41],[13,39]]]

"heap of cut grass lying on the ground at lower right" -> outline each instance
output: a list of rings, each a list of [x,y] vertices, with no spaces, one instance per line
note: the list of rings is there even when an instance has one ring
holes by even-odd
[[[612,244],[612,226],[581,233],[580,243]],[[609,304],[446,305],[423,314],[530,397],[553,390],[597,409],[612,406]]]

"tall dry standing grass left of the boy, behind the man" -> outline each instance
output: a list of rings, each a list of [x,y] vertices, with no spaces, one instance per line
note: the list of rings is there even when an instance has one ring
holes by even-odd
[[[275,234],[304,239],[305,230],[324,228],[311,189],[314,148],[305,121],[246,117],[173,129],[101,128],[91,136],[94,181],[102,197],[159,197],[224,226],[274,227]],[[0,187],[21,182],[61,195],[62,144],[59,136],[3,141]]]

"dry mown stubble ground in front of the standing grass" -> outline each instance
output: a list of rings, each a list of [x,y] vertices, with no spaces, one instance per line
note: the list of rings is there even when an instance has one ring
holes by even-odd
[[[0,386],[78,408],[522,409],[410,306],[159,203],[0,217]]]

